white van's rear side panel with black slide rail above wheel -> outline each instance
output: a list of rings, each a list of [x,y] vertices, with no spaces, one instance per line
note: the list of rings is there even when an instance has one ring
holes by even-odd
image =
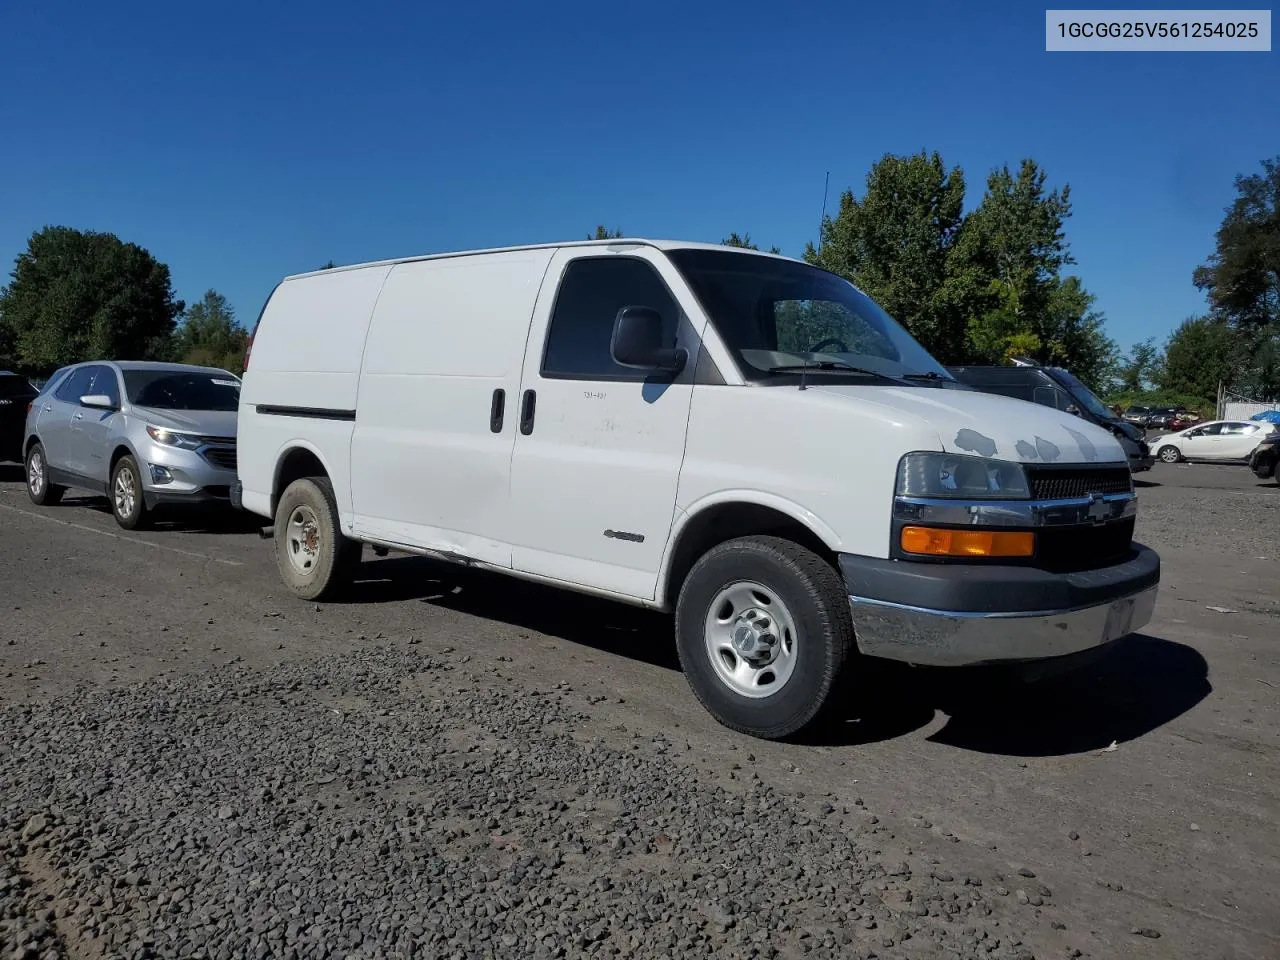
[[[271,515],[280,458],[293,447],[326,467],[351,531],[349,448],[360,357],[390,268],[285,280],[271,294],[241,388],[238,474],[244,508]]]

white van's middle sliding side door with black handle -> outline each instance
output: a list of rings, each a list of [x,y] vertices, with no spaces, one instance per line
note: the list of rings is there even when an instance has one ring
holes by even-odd
[[[521,362],[553,253],[392,270],[360,381],[351,451],[357,535],[511,564]]]

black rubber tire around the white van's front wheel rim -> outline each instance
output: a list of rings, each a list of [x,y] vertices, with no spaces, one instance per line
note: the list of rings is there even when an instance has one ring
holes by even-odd
[[[776,594],[796,634],[790,677],[760,698],[721,678],[707,641],[713,602],[722,590],[746,582]],[[844,686],[855,650],[847,591],[828,562],[799,544],[773,536],[728,540],[694,563],[681,586],[676,648],[694,695],[717,721],[763,740],[783,740],[814,723]]]

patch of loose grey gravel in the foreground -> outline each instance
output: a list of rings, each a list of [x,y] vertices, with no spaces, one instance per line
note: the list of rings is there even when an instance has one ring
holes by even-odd
[[[0,940],[19,956],[1012,957],[1050,923],[1033,877],[886,860],[858,800],[786,796],[746,751],[730,788],[707,782],[681,771],[684,737],[594,736],[607,710],[466,659],[353,650],[8,713],[24,749],[0,762]]]

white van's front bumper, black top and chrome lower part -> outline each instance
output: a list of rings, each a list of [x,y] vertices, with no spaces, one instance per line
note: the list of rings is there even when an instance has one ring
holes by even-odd
[[[858,649],[929,667],[1066,657],[1151,622],[1160,557],[1134,545],[1124,563],[1078,573],[933,564],[844,554]]]

